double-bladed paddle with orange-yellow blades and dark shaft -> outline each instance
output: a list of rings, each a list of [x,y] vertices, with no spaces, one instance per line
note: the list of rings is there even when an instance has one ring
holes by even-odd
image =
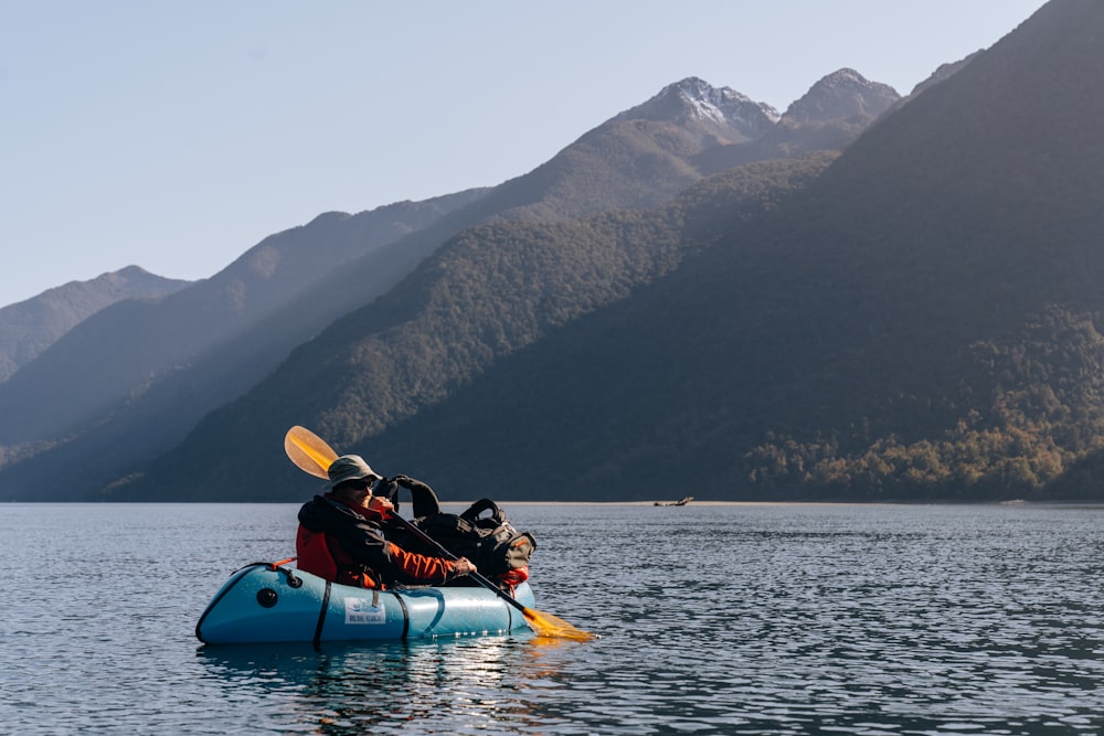
[[[291,462],[294,462],[300,470],[317,478],[326,479],[329,478],[329,474],[326,471],[329,469],[330,463],[338,457],[338,454],[335,452],[321,437],[306,427],[299,426],[291,427],[287,430],[287,435],[284,436],[284,451],[287,452],[287,457],[290,458]],[[399,514],[391,514],[390,518],[397,521],[423,542],[432,545],[442,554],[442,556],[447,557],[448,559],[457,559],[456,555],[443,547],[436,540]],[[588,641],[595,638],[595,634],[588,631],[583,631],[567,621],[564,621],[562,618],[522,606],[512,596],[507,594],[479,573],[471,573],[469,577],[506,602],[520,610],[521,615],[526,617],[526,622],[529,625],[529,628],[535,631],[539,636],[575,639],[576,641]]]

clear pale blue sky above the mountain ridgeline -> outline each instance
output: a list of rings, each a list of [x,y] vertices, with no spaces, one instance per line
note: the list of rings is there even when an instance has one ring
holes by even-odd
[[[526,173],[687,76],[906,94],[1042,0],[0,0],[0,306]]]

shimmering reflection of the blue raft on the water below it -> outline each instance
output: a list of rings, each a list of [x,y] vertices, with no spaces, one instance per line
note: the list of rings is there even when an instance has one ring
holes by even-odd
[[[202,647],[198,658],[204,676],[227,696],[247,697],[254,706],[274,697],[284,703],[283,716],[266,715],[268,728],[363,734],[416,724],[421,733],[493,733],[502,722],[545,723],[526,692],[554,686],[556,662],[549,654],[577,646],[523,634],[319,648]]]

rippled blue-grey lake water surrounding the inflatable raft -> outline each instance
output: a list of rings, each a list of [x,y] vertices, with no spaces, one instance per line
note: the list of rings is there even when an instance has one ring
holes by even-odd
[[[0,732],[1104,732],[1102,509],[506,511],[535,607],[601,639],[204,647],[295,505],[2,504]]]

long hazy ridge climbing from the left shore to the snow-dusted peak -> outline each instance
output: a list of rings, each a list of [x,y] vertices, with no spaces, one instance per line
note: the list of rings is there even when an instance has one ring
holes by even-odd
[[[86,498],[170,449],[204,414],[335,319],[386,294],[450,237],[488,222],[571,223],[647,210],[701,180],[708,151],[747,145],[777,121],[768,106],[684,79],[493,189],[320,215],[170,298],[113,305],[0,385],[0,487],[38,497],[42,469],[65,463],[82,468],[87,486],[73,494]]]

